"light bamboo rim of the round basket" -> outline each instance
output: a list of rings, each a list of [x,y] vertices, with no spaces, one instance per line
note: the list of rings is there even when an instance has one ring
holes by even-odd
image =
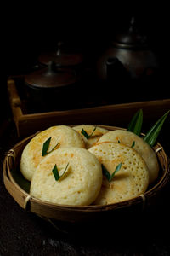
[[[75,126],[75,125],[70,125],[70,126]],[[126,130],[125,128],[122,127],[117,127],[117,126],[111,126],[111,125],[98,125],[99,127],[104,127],[104,128],[110,128],[111,130]],[[38,131],[40,132],[40,131]],[[13,148],[11,148],[12,150],[14,150],[14,148],[18,148],[20,147],[20,144],[22,143],[26,143],[26,141],[29,141],[32,137],[36,136],[37,133],[34,133],[33,135],[26,137],[24,139],[22,139],[19,143],[16,143],[14,145]],[[42,201],[40,199],[37,199],[33,196],[31,196],[30,194],[28,194],[26,192],[26,190],[22,189],[20,187],[20,185],[14,180],[14,177],[12,176],[11,172],[8,172],[8,177],[9,180],[11,181],[12,185],[16,188],[20,190],[20,193],[27,198],[29,201],[32,201],[34,203],[37,204],[41,204],[42,206],[46,206],[46,207],[53,207],[54,209],[60,209],[60,210],[69,210],[69,211],[77,211],[77,212],[99,212],[99,211],[108,211],[108,210],[113,210],[116,208],[123,208],[123,207],[129,207],[134,203],[141,203],[145,201],[146,198],[151,197],[153,194],[156,194],[157,191],[159,191],[159,189],[162,187],[164,187],[166,185],[166,183],[169,180],[170,177],[170,169],[169,169],[169,159],[167,157],[167,154],[165,153],[164,148],[161,146],[161,143],[156,143],[156,146],[154,148],[161,148],[161,154],[164,155],[164,164],[165,164],[165,170],[161,175],[161,178],[158,180],[158,182],[152,186],[149,190],[146,190],[144,192],[144,194],[142,195],[138,195],[136,197],[133,197],[130,200],[127,201],[122,201],[122,202],[117,202],[117,203],[112,203],[112,204],[107,204],[107,205],[89,205],[89,206],[72,206],[72,205],[63,205],[63,204],[56,204],[53,202],[48,202],[48,201]],[[10,149],[10,150],[11,150]],[[8,150],[8,152],[10,151]],[[158,154],[160,154],[160,151],[158,152]],[[6,161],[8,159],[8,155],[6,155],[4,161],[3,161],[3,177],[4,177],[4,172],[5,172],[5,168],[6,168]],[[159,160],[158,160],[159,161]],[[26,209],[26,207],[25,207]]]

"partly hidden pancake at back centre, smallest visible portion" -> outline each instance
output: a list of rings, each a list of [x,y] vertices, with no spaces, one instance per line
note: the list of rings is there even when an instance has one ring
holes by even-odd
[[[108,132],[107,129],[95,125],[77,125],[73,129],[81,134],[86,148],[91,148],[102,135]]]

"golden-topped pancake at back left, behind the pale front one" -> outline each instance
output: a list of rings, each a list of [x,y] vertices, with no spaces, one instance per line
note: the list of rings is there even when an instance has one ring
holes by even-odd
[[[66,125],[52,126],[45,131],[39,132],[33,137],[23,150],[20,160],[20,172],[31,181],[38,164],[44,158],[42,156],[43,144],[49,139],[48,152],[56,148],[75,146],[85,148],[80,134]]]

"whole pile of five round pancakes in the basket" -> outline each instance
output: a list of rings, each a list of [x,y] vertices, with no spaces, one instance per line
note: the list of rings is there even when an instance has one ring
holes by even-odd
[[[42,156],[49,137],[48,154]],[[54,166],[58,180],[52,172]],[[111,180],[102,172],[104,167],[109,175],[115,172]],[[156,180],[159,166],[154,150],[133,132],[108,131],[94,125],[58,125],[38,133],[26,145],[20,171],[31,181],[31,196],[81,206],[127,201],[144,194]]]

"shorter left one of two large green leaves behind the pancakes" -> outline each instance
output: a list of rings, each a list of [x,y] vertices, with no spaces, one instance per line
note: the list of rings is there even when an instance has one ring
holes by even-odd
[[[136,135],[140,135],[143,124],[143,110],[139,109],[137,113],[134,114],[133,119],[127,127],[127,131],[132,131]]]

